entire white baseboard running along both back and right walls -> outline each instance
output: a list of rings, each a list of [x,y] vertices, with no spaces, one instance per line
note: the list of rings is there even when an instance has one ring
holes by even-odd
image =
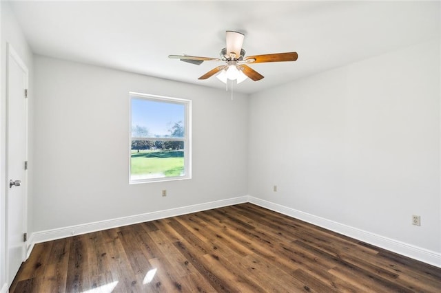
[[[70,237],[72,235],[81,235],[89,232],[95,232],[110,228],[137,224],[145,221],[152,221],[155,219],[163,219],[167,217],[196,213],[201,210],[209,210],[212,208],[220,208],[223,206],[232,206],[234,204],[243,204],[245,202],[250,202],[252,204],[262,206],[263,208],[268,208],[269,210],[274,210],[278,213],[288,215],[289,217],[294,217],[296,219],[306,221],[316,226],[320,226],[322,228],[326,228],[328,230],[338,232],[342,235],[346,235],[348,237],[358,239],[360,241],[364,241],[373,246],[378,246],[380,248],[390,250],[391,252],[396,252],[406,257],[411,257],[412,259],[417,259],[418,261],[423,261],[424,263],[429,263],[431,265],[435,265],[441,268],[441,254],[438,252],[426,250],[418,246],[412,246],[411,244],[408,243],[383,237],[381,235],[376,235],[374,233],[367,232],[365,230],[360,230],[358,228],[353,228],[345,224],[340,224],[336,221],[331,221],[329,219],[304,213],[294,208],[288,208],[287,206],[274,204],[273,202],[268,202],[264,199],[258,199],[256,197],[250,197],[247,195],[243,197],[223,199],[216,202],[207,202],[204,204],[183,206],[181,208],[171,208],[169,210],[158,210],[156,212],[145,213],[141,215],[121,217],[121,218],[109,219],[105,221],[97,221],[94,223],[34,232],[32,233],[32,235],[28,240],[27,257],[29,257],[30,252],[32,251],[32,248],[34,248],[35,243],[41,243],[45,241]],[[0,293],[3,293],[3,291],[1,291]]]

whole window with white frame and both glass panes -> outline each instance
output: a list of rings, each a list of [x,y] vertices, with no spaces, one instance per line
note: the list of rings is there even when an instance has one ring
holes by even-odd
[[[191,100],[130,93],[130,183],[191,177]]]

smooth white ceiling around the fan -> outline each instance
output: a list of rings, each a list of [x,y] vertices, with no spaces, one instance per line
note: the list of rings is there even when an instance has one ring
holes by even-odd
[[[245,34],[247,55],[298,52],[298,61],[250,65],[253,93],[440,37],[440,2],[418,1],[12,1],[36,54],[225,89],[198,77],[218,66],[169,54],[218,57],[225,30]],[[409,56],[415,58],[417,56]]]

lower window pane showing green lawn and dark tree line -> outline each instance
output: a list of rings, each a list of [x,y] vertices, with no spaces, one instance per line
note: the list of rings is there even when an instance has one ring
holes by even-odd
[[[132,140],[130,180],[185,176],[182,140]]]

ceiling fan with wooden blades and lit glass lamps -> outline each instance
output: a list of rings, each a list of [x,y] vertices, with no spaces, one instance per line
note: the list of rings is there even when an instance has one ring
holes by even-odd
[[[251,78],[254,81],[263,78],[263,75],[249,67],[247,64],[280,62],[280,61],[296,61],[296,52],[254,55],[245,57],[245,50],[242,48],[245,35],[240,32],[227,30],[227,47],[220,50],[220,58],[198,57],[189,55],[169,55],[169,58],[181,59],[188,63],[201,65],[203,61],[221,61],[226,64],[215,67],[198,79],[207,79],[217,74],[217,78],[227,83],[227,79],[236,80],[241,83],[243,80]]]

